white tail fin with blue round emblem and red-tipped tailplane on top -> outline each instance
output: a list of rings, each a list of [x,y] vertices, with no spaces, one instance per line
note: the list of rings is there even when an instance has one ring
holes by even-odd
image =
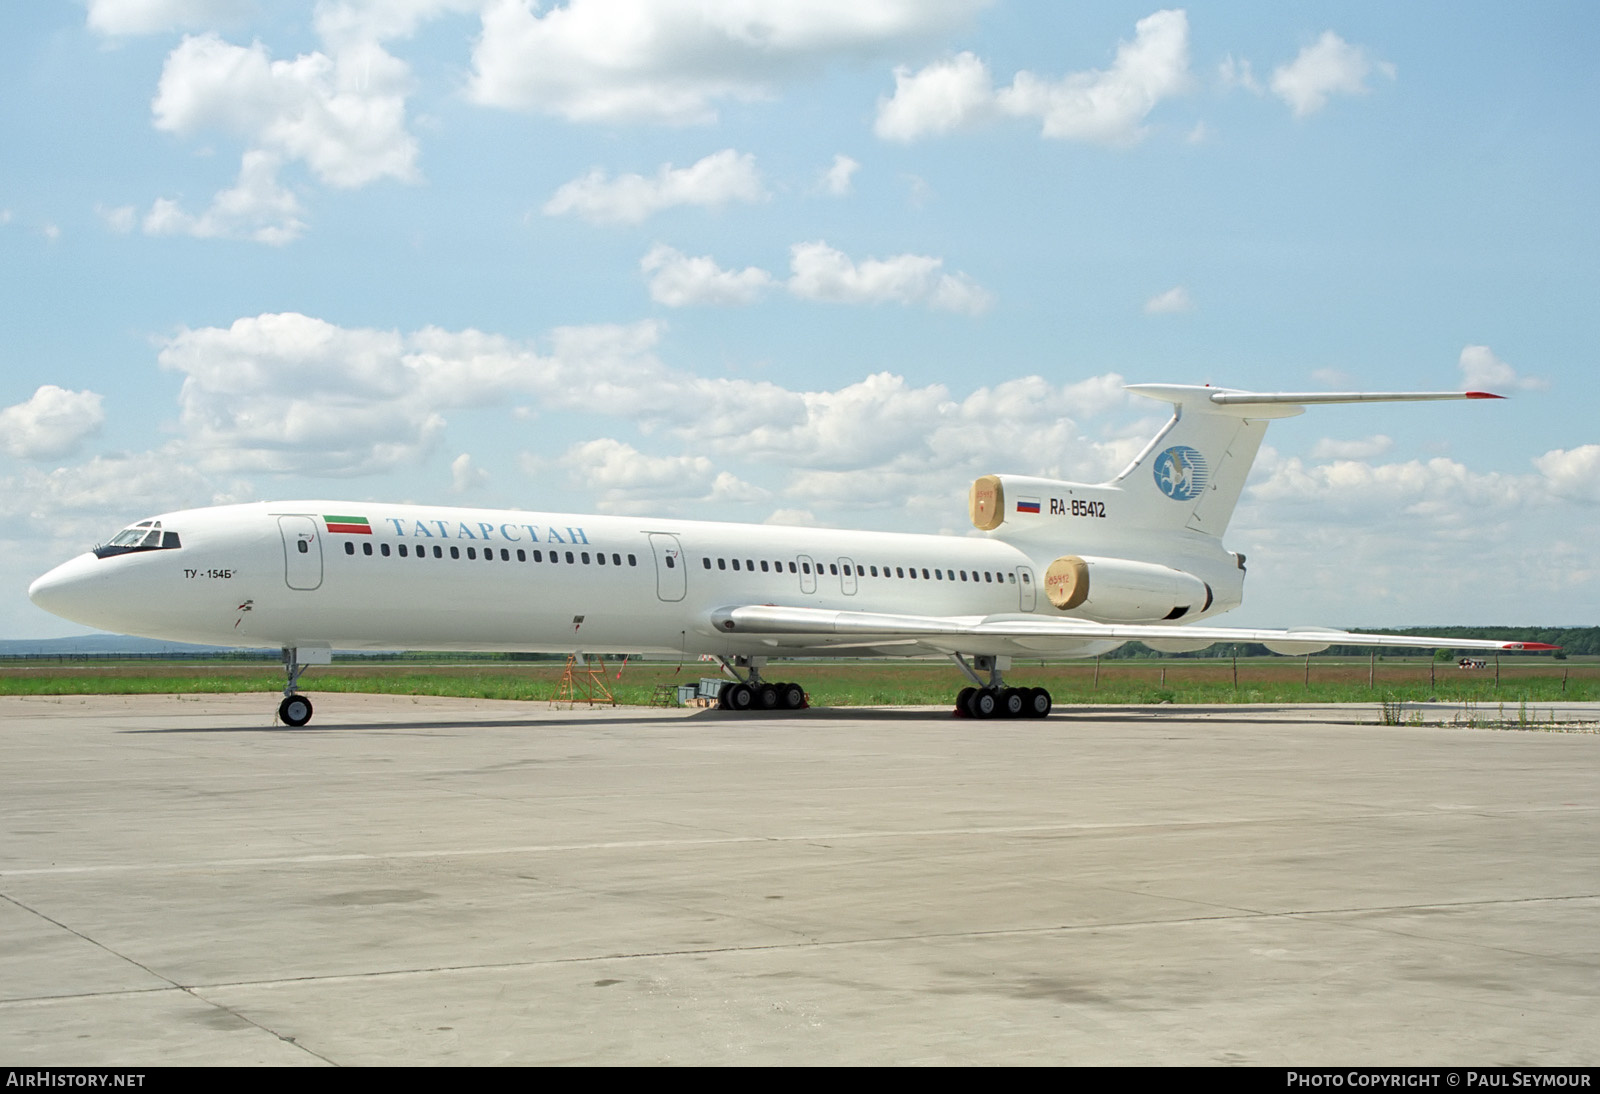
[[[1394,403],[1501,398],[1488,392],[1237,392],[1187,384],[1131,384],[1130,392],[1173,403],[1173,419],[1117,478],[1147,528],[1221,537],[1245,489],[1267,424],[1315,403]]]

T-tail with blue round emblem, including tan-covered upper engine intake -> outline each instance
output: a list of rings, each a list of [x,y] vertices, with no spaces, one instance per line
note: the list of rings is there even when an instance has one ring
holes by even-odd
[[[1173,405],[1173,417],[1107,483],[984,475],[968,494],[973,525],[1002,537],[1109,541],[1150,533],[1221,539],[1245,489],[1267,424],[1318,403],[1501,398],[1488,392],[1240,392],[1192,384],[1133,384]]]

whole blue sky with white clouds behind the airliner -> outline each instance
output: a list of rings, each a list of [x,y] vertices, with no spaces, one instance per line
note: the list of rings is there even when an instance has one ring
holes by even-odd
[[[963,534],[1142,381],[1514,397],[1275,424],[1230,621],[1595,622],[1592,5],[5,19],[0,637],[226,501]]]

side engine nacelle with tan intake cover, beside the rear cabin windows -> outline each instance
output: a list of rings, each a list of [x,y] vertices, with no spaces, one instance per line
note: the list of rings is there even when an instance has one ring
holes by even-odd
[[[1045,569],[1059,611],[1099,622],[1181,619],[1211,606],[1211,587],[1181,569],[1125,558],[1062,555]]]

